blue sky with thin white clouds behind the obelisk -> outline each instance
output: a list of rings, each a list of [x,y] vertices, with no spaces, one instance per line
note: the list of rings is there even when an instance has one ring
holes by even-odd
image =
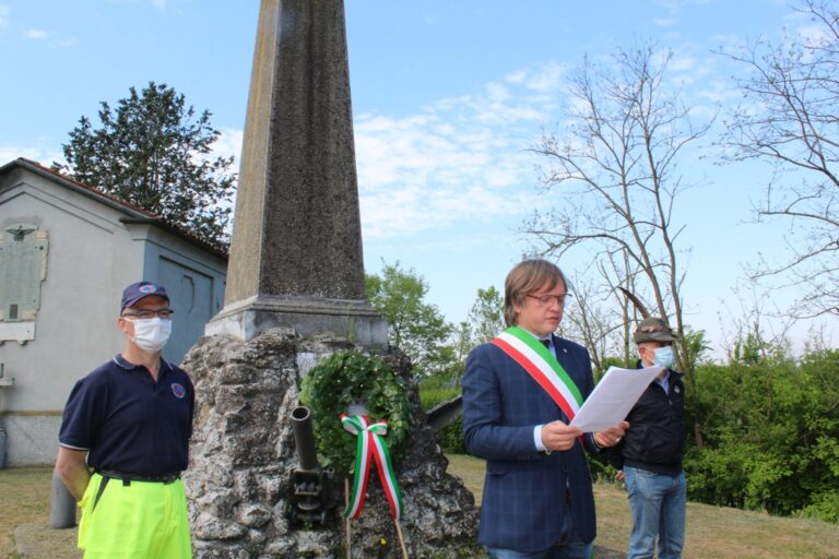
[[[60,158],[81,116],[149,81],[209,109],[224,133],[217,150],[238,159],[258,9],[256,0],[0,0],[0,163]],[[811,25],[777,0],[346,0],[345,9],[366,270],[414,269],[450,321],[465,318],[478,287],[501,286],[528,249],[517,229],[553,203],[539,195],[540,160],[527,148],[543,126],[560,124],[564,80],[583,55],[650,40],[672,49],[671,83],[701,119],[738,99],[731,75],[741,69],[713,50]],[[765,168],[716,166],[702,154],[712,152],[692,152],[681,167],[697,185],[677,213],[689,249],[684,297],[687,322],[719,345],[752,297],[743,265],[778,257],[796,231],[748,223]],[[586,264],[560,262],[571,274]],[[780,292],[769,300],[788,301]]]

